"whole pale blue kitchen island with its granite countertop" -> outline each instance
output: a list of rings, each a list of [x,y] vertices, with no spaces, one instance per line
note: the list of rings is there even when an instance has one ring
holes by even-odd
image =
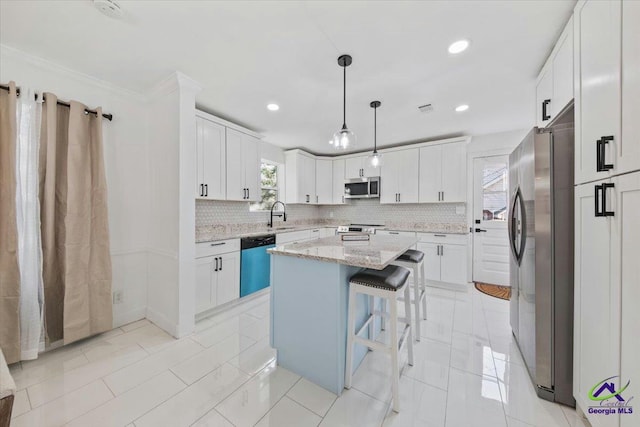
[[[340,395],[349,278],[363,268],[382,270],[417,242],[415,237],[376,235],[365,242],[343,242],[332,236],[269,249],[271,346],[278,365]],[[356,323],[362,325],[369,308],[368,299],[359,297]],[[366,352],[356,344],[354,369]]]

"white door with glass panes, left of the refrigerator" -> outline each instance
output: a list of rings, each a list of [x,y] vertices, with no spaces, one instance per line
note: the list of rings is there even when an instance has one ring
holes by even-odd
[[[509,285],[509,161],[473,161],[473,281]]]

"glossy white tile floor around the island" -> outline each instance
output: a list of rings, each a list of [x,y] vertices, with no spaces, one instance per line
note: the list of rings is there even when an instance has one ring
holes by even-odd
[[[509,305],[430,288],[415,363],[390,410],[389,361],[369,353],[341,397],[279,368],[268,295],[174,340],[141,320],[11,366],[12,426],[562,426],[586,423],[536,397]]]

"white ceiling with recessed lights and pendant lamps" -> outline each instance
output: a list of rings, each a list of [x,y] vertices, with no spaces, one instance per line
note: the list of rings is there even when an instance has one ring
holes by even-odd
[[[342,124],[344,53],[355,151],[373,145],[372,100],[380,146],[533,126],[535,78],[574,3],[120,1],[116,20],[89,0],[1,1],[0,43],[140,93],[182,71],[202,109],[320,154]]]

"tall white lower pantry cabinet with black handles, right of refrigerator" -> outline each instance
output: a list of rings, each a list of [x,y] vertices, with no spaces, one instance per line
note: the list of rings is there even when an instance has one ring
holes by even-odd
[[[589,414],[593,387],[640,378],[640,172],[575,191],[574,397],[594,427],[637,426],[639,415]],[[621,393],[625,399],[637,389]],[[614,399],[615,400],[615,399]]]

